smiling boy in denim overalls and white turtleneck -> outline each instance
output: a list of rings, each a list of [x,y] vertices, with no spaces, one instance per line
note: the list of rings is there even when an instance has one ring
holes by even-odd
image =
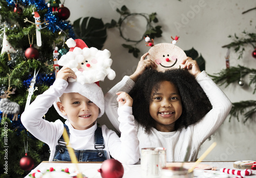
[[[118,93],[121,137],[105,125],[97,127],[96,119],[104,114],[104,96],[96,83],[68,83],[76,78],[66,66],[57,73],[53,85],[38,95],[21,116],[23,125],[34,137],[49,145],[49,161],[71,161],[62,133],[68,131],[70,145],[78,161],[104,161],[111,156],[124,164],[139,161],[139,141],[132,115],[132,98]],[[49,122],[42,119],[54,104],[60,116],[67,119],[65,125],[60,120]]]

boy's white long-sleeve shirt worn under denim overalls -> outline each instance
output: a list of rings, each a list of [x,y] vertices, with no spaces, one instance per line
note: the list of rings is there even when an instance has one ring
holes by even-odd
[[[55,146],[61,137],[64,126],[60,120],[49,122],[42,119],[52,106],[57,97],[60,97],[68,86],[68,82],[63,79],[56,79],[50,88],[41,95],[38,95],[22,114],[21,121],[28,131],[38,140],[49,145],[51,154],[49,161],[53,160]],[[137,131],[132,115],[132,107],[122,106],[118,108],[118,121],[120,122],[119,130],[121,137],[119,138],[113,130],[102,125],[102,136],[107,152],[107,159],[110,155],[116,160],[124,164],[135,164],[139,161],[139,141]],[[69,120],[65,122],[70,130],[70,145],[74,149],[95,149],[94,148],[94,131],[97,123],[86,129],[77,130],[70,124]]]

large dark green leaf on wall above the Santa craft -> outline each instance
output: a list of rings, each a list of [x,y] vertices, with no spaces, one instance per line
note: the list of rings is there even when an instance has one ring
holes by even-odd
[[[81,23],[81,25],[80,25]],[[73,23],[74,32],[89,48],[101,50],[106,40],[106,27],[102,19],[94,17],[78,18]]]

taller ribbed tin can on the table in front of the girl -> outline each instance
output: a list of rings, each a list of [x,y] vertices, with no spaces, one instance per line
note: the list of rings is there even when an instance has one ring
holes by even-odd
[[[166,165],[166,149],[142,148],[140,164],[142,177],[160,178],[161,169]]]

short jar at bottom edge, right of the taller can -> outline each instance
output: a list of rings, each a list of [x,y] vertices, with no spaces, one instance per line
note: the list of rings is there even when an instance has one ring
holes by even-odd
[[[163,167],[161,169],[161,178],[193,178],[193,172],[188,173],[184,167]]]

